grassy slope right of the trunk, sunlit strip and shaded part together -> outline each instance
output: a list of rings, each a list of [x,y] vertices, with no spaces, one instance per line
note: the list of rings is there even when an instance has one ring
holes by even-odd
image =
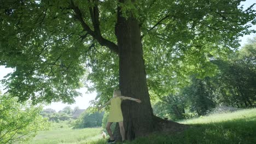
[[[190,128],[179,134],[153,134],[130,143],[256,143],[256,109],[220,113],[179,123]],[[88,142],[103,144],[101,140]]]

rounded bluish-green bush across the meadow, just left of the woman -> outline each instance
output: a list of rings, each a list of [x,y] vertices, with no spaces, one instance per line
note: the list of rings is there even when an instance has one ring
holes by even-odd
[[[100,127],[102,124],[104,112],[92,113],[89,109],[85,110],[73,123],[73,128],[92,128]]]

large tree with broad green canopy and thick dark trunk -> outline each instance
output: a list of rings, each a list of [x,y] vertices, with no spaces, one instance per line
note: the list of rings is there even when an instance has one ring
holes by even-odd
[[[238,37],[252,32],[246,23],[255,23],[253,5],[243,10],[240,3],[6,1],[0,10],[0,64],[14,72],[3,82],[20,100],[72,103],[85,77],[101,92],[100,103],[118,87],[142,100],[122,104],[127,139],[182,128],[153,115],[148,86],[152,95],[170,93],[186,75],[208,74],[210,57],[238,47]]]

